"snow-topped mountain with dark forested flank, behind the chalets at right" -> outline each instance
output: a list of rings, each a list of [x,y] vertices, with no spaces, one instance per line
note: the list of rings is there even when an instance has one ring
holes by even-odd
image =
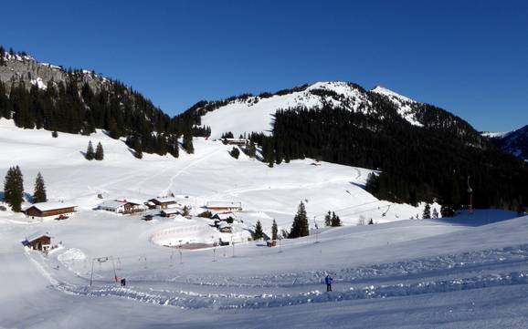
[[[517,210],[528,200],[522,161],[462,118],[385,87],[317,82],[201,101],[182,117],[213,138],[246,134],[269,167],[312,158],[377,169],[365,185],[377,198],[438,200],[444,215],[468,207],[468,177],[473,206]]]

